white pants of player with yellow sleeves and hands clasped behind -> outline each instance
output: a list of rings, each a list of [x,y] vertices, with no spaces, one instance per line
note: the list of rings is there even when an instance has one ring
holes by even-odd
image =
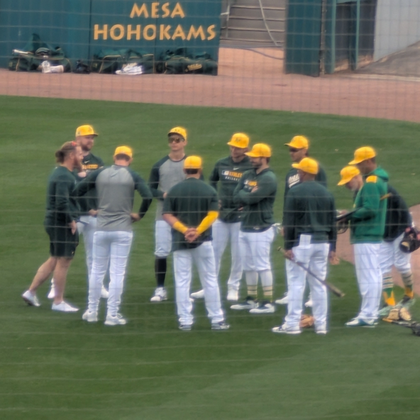
[[[175,295],[179,324],[191,325],[193,322],[192,302],[189,300],[193,261],[204,289],[204,303],[209,319],[211,322],[223,321],[213,246],[211,242],[206,241],[197,248],[174,252]]]

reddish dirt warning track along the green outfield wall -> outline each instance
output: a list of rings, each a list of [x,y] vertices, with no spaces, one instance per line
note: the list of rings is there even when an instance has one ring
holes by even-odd
[[[221,48],[219,76],[0,71],[0,94],[277,109],[420,121],[420,79],[283,74],[282,51]],[[275,57],[275,58],[273,58]]]

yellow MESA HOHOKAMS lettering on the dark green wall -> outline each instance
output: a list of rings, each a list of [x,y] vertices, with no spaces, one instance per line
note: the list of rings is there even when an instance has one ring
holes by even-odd
[[[122,6],[126,2],[120,2]],[[209,7],[213,4],[214,7]],[[200,7],[201,6],[201,7]],[[219,6],[219,7],[218,7]],[[219,38],[220,2],[179,1],[134,3],[126,16],[110,14],[106,20],[113,23],[95,23],[92,13],[95,41],[189,41],[209,42]],[[197,11],[203,13],[200,15]],[[189,14],[191,11],[191,14]],[[103,14],[100,16],[103,19]],[[99,18],[99,16],[97,16]]]

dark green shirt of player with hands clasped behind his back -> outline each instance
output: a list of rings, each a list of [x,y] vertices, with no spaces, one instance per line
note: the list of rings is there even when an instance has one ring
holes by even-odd
[[[201,179],[187,178],[172,187],[163,201],[163,214],[172,214],[189,228],[197,228],[209,211],[218,211],[217,193]],[[211,228],[193,243],[185,241],[184,234],[172,229],[172,250],[197,248],[211,241]]]

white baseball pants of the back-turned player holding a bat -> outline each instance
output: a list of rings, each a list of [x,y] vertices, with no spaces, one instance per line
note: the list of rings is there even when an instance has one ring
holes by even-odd
[[[297,261],[302,262],[306,268],[309,268],[321,280],[325,280],[329,249],[330,245],[328,243],[306,243],[305,245],[297,245],[292,248],[292,251]],[[299,326],[307,280],[311,290],[312,301],[314,302],[312,314],[314,314],[315,328],[317,330],[326,330],[328,294],[324,284],[290,260],[286,260],[286,272],[289,304],[287,306],[287,316],[284,320],[287,326]]]

